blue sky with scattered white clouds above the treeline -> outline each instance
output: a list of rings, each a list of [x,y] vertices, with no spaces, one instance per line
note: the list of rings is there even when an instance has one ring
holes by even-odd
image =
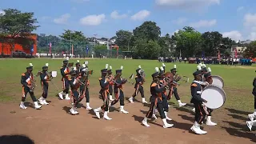
[[[111,38],[118,30],[154,21],[162,35],[192,26],[235,41],[256,39],[255,0],[0,0],[0,13],[8,8],[34,12],[37,34],[60,35],[69,29]]]

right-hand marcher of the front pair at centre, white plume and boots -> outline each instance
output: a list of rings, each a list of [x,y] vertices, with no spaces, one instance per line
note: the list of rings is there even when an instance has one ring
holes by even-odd
[[[115,99],[114,99],[114,101],[112,101],[110,103],[110,106],[114,106],[114,104],[116,104],[120,99],[120,112],[122,112],[124,114],[128,114],[129,112],[124,110],[125,95],[124,95],[123,90],[122,90],[122,85],[124,85],[126,83],[126,79],[121,78],[122,69],[123,69],[123,66],[121,66],[120,70],[115,70],[116,74],[119,74],[119,77],[116,78],[115,82],[114,82],[114,96],[115,96]]]

